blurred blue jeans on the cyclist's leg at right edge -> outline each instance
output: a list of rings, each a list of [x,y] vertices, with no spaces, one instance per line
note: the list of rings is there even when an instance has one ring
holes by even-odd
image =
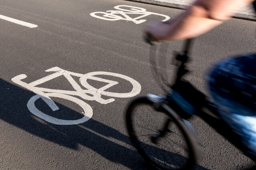
[[[220,118],[256,156],[256,55],[226,59],[208,78]]]

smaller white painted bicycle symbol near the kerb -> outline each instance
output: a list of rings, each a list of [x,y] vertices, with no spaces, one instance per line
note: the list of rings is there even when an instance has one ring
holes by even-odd
[[[128,8],[128,9],[123,9]],[[163,16],[165,19],[162,21],[167,21],[170,20],[169,16],[163,15],[163,14],[157,14],[154,12],[148,12],[144,8],[139,8],[135,6],[128,6],[128,5],[118,5],[114,7],[117,10],[109,10],[106,12],[92,12],[90,16],[100,18],[102,20],[108,20],[108,21],[116,21],[116,20],[127,20],[127,21],[133,21],[134,23],[142,23],[145,22],[146,20],[138,20],[140,18],[149,16],[149,15],[158,15],[158,16]],[[102,16],[103,14],[103,16]],[[141,16],[138,16],[136,18],[131,18],[128,16],[129,14],[141,14]]]

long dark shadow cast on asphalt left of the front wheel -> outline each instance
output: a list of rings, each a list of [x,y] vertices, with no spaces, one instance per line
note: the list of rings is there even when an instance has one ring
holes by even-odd
[[[27,103],[32,96],[34,96],[33,92],[0,79],[0,119],[26,131],[22,134],[25,136],[33,134],[73,150],[79,150],[79,145],[82,145],[107,160],[122,164],[130,169],[150,169],[150,166],[132,147],[126,133],[97,121],[94,117],[78,125],[62,126],[48,123],[28,110]],[[38,105],[40,105],[40,101]],[[76,113],[64,105],[58,104],[58,106],[62,111],[80,115],[80,113]],[[41,109],[39,107],[43,106],[38,106],[38,109]],[[122,116],[124,115],[122,114]],[[125,124],[119,125],[123,126],[122,129],[125,128]],[[199,164],[196,165],[196,169],[206,170]]]

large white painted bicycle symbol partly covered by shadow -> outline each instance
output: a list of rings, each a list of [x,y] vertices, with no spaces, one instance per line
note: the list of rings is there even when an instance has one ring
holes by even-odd
[[[63,70],[59,67],[50,68],[46,70],[46,72],[55,72],[55,73],[50,74],[46,77],[40,78],[39,80],[36,80],[31,83],[25,83],[21,81],[22,79],[27,77],[25,74],[20,74],[18,76],[15,76],[14,78],[12,78],[12,81],[36,93],[36,95],[32,96],[32,98],[30,98],[30,100],[28,101],[27,107],[29,111],[34,115],[40,117],[41,119],[44,119],[45,121],[54,123],[56,125],[74,125],[74,124],[84,123],[92,117],[92,107],[88,105],[86,102],[73,96],[79,96],[84,100],[95,100],[100,104],[108,104],[110,102],[113,102],[114,98],[105,100],[101,98],[102,95],[116,97],[116,98],[129,98],[129,97],[136,96],[137,94],[140,93],[140,90],[141,90],[141,86],[136,80],[128,76],[124,76],[122,74],[117,74],[113,72],[98,71],[98,72],[90,72],[87,74],[79,74],[79,73]],[[107,80],[104,78],[99,78],[96,75],[115,76],[115,77],[128,80],[128,82],[132,84],[133,88],[128,93],[115,93],[115,92],[105,91],[106,89],[118,84],[118,82],[113,80]],[[47,82],[59,76],[65,76],[65,78],[70,82],[70,84],[74,88],[74,91],[36,87],[39,84],[42,84],[44,82]],[[74,80],[74,78],[72,78],[72,76],[79,77],[79,81],[81,85],[87,90],[84,90],[83,88],[81,88],[81,86]],[[88,79],[104,82],[107,84],[101,88],[94,88],[87,82]],[[54,103],[54,101],[50,97],[62,98],[78,104],[84,110],[84,116],[81,119],[77,119],[77,120],[63,120],[63,119],[57,119],[55,117],[47,115],[46,113],[43,113],[38,108],[36,108],[35,106],[36,100],[38,100],[39,98],[42,98],[42,100],[52,109],[52,111],[58,110],[59,107]]]

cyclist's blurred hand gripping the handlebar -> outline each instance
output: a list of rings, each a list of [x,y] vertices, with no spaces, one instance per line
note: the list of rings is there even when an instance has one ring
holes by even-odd
[[[145,33],[151,35],[156,41],[167,41],[170,24],[162,21],[154,21],[146,26]]]

